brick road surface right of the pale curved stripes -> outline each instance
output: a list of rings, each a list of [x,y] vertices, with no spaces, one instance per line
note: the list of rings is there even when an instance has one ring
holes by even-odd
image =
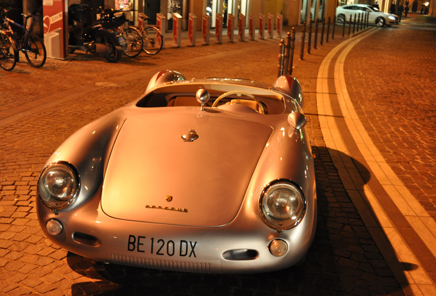
[[[350,53],[348,92],[380,153],[436,219],[435,27],[403,24],[363,40]],[[368,56],[368,47],[378,51]]]

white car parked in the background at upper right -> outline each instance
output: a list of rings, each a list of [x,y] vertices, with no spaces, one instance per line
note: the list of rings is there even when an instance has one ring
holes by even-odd
[[[342,5],[336,8],[336,17],[339,23],[344,23],[344,21],[350,21],[350,16],[354,20],[354,14],[356,17],[361,14],[366,14],[369,12],[368,23],[370,25],[377,25],[378,27],[383,27],[384,25],[397,25],[398,16],[395,14],[389,14],[386,12],[380,12],[378,8],[374,8],[367,4],[352,4],[352,5]]]

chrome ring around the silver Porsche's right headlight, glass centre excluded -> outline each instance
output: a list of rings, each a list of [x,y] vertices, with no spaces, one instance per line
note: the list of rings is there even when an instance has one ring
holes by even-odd
[[[265,195],[269,192],[269,190],[271,188],[274,188],[274,186],[277,186],[279,184],[283,184],[284,186],[291,186],[292,188],[294,188],[295,192],[297,192],[299,197],[300,197],[300,202],[301,202],[300,206],[302,206],[302,209],[300,210],[299,217],[297,219],[293,220],[293,223],[287,223],[286,225],[278,225],[278,223],[276,223],[277,221],[279,221],[278,219],[275,219],[274,217],[270,217],[269,215],[267,215],[264,212]],[[295,182],[288,180],[288,179],[278,179],[278,180],[274,180],[272,182],[269,182],[269,184],[267,184],[267,186],[265,186],[265,188],[263,189],[262,194],[261,194],[261,198],[259,199],[259,212],[261,212],[261,217],[262,217],[264,223],[267,224],[269,227],[271,227],[274,230],[277,230],[279,232],[281,232],[283,230],[290,230],[291,228],[299,225],[306,214],[306,207],[307,207],[306,197],[304,197],[302,188],[300,186],[298,186],[298,184],[296,184]]]

